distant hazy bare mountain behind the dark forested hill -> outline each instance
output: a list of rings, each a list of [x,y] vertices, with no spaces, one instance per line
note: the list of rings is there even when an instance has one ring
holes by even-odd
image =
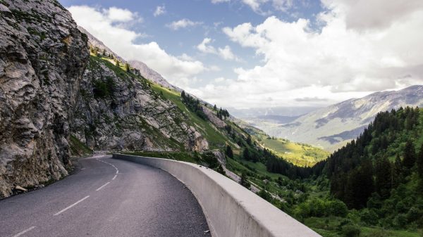
[[[405,106],[423,106],[423,86],[382,91],[315,110],[288,123],[253,121],[271,136],[335,150],[355,139],[377,113]]]

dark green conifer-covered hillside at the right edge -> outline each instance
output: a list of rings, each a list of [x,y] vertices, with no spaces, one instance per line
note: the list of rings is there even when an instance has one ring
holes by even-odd
[[[423,227],[423,110],[379,113],[355,140],[314,170],[357,222],[384,229]]]

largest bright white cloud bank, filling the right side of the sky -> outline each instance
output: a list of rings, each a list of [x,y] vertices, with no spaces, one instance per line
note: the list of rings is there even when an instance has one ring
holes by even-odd
[[[319,15],[319,31],[307,19],[286,22],[274,16],[259,25],[224,28],[231,41],[261,56],[262,65],[235,68],[234,78],[219,79],[217,85],[213,82],[191,92],[228,107],[271,107],[326,105],[373,91],[422,84],[420,1],[410,0],[407,6],[365,1],[371,7],[366,11],[374,12],[367,20],[360,20],[362,13],[355,10],[355,4],[339,4],[355,1],[328,1],[327,11]],[[392,4],[400,13],[390,15]],[[269,97],[272,101],[267,101]]]

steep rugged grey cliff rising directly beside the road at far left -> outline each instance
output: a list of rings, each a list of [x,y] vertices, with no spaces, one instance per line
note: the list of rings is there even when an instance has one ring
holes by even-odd
[[[0,198],[60,179],[87,38],[54,0],[0,1]]]

